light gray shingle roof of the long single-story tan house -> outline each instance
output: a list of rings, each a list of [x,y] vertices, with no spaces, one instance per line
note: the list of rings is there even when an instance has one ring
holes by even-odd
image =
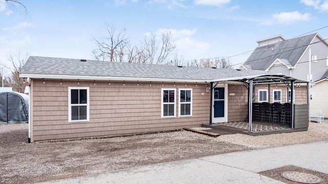
[[[193,66],[173,66],[140,64],[128,62],[110,62],[52,57],[30,56],[20,72],[23,77],[53,75],[61,76],[99,76],[119,78],[163,78],[163,79],[189,79],[212,80],[239,76],[268,74],[263,71],[237,71],[232,68],[206,68]]]

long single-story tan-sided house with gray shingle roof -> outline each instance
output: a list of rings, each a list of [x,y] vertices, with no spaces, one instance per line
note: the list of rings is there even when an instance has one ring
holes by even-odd
[[[36,56],[20,77],[30,86],[29,142],[243,121],[247,82],[303,82],[255,70]]]

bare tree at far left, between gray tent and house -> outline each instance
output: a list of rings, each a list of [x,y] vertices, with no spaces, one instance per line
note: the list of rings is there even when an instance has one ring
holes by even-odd
[[[22,68],[25,62],[28,59],[28,54],[23,54],[18,52],[14,56],[10,54],[8,60],[11,62],[12,66],[6,66],[11,71],[11,77],[8,79],[8,85],[12,87],[13,91],[20,93],[24,92],[25,82],[24,79],[19,78],[19,73],[22,71]]]

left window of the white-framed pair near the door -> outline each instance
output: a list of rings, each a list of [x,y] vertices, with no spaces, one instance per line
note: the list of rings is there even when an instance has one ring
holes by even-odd
[[[175,117],[175,88],[161,89],[161,117],[170,118]]]

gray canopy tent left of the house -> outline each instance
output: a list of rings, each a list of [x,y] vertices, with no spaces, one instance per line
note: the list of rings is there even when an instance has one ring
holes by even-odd
[[[0,93],[0,123],[28,123],[28,103],[25,94]]]

